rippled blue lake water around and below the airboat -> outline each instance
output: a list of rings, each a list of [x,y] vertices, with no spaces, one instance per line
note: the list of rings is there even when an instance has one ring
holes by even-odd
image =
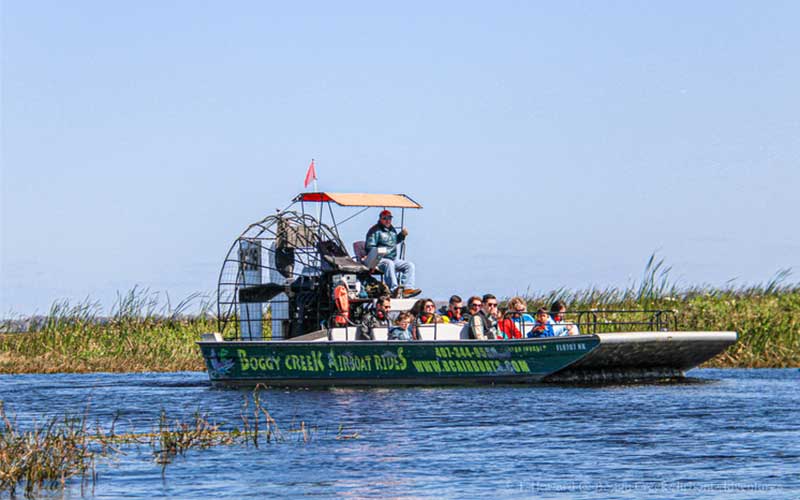
[[[798,497],[800,370],[689,375],[599,387],[266,389],[261,400],[278,424],[303,421],[308,442],[285,432],[285,441],[258,448],[192,449],[163,476],[152,448],[126,446],[99,459],[85,494]],[[147,432],[162,409],[172,419],[199,410],[240,426],[250,394],[213,388],[198,372],[0,375],[0,399],[23,428],[88,411],[92,423],[107,427],[118,415],[118,431]],[[340,426],[358,437],[337,439]],[[79,480],[67,494],[81,495]]]

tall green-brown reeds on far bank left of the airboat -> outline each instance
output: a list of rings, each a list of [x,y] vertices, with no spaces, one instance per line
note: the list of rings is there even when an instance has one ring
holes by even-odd
[[[184,314],[198,298],[162,306],[158,294],[134,288],[107,317],[96,302],[56,302],[29,332],[0,335],[0,373],[203,370],[195,342],[217,322],[204,303]]]

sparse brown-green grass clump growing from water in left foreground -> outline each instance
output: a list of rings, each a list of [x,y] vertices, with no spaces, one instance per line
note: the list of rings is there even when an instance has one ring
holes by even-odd
[[[321,435],[315,425],[295,420],[282,430],[260,397],[261,387],[244,396],[241,425],[227,425],[209,419],[207,413],[195,412],[187,419],[174,419],[162,409],[150,432],[116,432],[116,419],[108,429],[98,423],[87,424],[88,407],[81,417],[50,418],[43,425],[33,424],[21,431],[6,414],[0,400],[0,492],[14,496],[17,489],[35,496],[41,489],[61,489],[78,479],[81,493],[97,481],[96,465],[100,459],[113,458],[144,448],[161,467],[162,475],[177,457],[190,450],[215,446],[254,446],[295,443],[309,444],[315,439],[358,439],[357,432],[346,433],[340,425],[335,435]]]

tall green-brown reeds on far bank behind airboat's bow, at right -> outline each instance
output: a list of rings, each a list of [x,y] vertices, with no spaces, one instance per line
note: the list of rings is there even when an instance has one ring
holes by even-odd
[[[651,255],[641,281],[627,288],[558,289],[528,294],[528,309],[549,308],[563,300],[570,310],[671,310],[680,330],[736,331],[739,341],[707,362],[706,367],[800,366],[800,284],[787,283],[784,269],[769,281],[724,288],[681,288],[670,278],[671,267]],[[621,316],[606,315],[609,319]]]

